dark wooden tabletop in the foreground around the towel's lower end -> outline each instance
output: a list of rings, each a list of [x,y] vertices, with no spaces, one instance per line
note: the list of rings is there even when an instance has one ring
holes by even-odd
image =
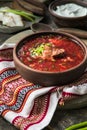
[[[87,121],[87,107],[77,110],[56,110],[49,127],[43,130],[64,130],[69,125]],[[0,130],[18,130],[0,116]]]

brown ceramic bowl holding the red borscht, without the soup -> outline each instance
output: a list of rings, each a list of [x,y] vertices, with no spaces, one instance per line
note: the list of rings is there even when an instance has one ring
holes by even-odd
[[[50,34],[64,36],[69,38],[70,40],[74,40],[75,44],[78,44],[81,47],[84,54],[84,58],[81,63],[63,72],[48,72],[32,69],[20,61],[20,59],[18,58],[18,52],[23,45],[26,45],[26,43],[31,39]],[[80,39],[68,33],[55,31],[39,32],[25,37],[16,44],[13,49],[13,59],[16,69],[26,80],[42,86],[64,85],[73,82],[84,73],[87,66],[87,47]]]

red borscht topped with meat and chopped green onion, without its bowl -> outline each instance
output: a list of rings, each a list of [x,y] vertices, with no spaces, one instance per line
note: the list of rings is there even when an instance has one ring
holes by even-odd
[[[32,69],[63,72],[78,65],[84,52],[73,40],[60,35],[43,35],[25,43],[18,57]]]

